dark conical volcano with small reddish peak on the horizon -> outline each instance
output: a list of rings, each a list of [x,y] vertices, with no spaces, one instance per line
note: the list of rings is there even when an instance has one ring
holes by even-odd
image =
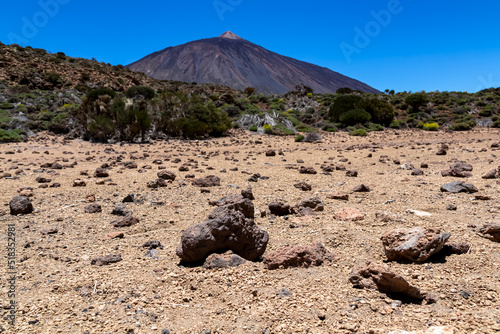
[[[304,84],[316,93],[349,87],[366,93],[378,90],[328,68],[282,56],[226,31],[154,52],[127,66],[159,80],[213,83],[259,93],[283,94]]]

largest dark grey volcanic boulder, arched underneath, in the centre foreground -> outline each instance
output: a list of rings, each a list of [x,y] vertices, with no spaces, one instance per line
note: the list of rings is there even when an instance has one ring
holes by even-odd
[[[233,195],[223,203],[208,220],[184,231],[176,251],[182,261],[199,262],[227,250],[250,261],[264,254],[269,235],[255,225],[252,201]]]

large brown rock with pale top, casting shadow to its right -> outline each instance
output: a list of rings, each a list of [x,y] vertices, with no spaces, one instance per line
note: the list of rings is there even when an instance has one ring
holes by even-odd
[[[422,262],[438,253],[449,237],[438,228],[414,227],[387,231],[380,239],[389,261]]]

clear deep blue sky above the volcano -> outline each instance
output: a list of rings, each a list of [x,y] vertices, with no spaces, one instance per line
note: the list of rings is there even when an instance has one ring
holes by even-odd
[[[126,65],[230,30],[380,90],[473,92],[500,86],[499,13],[492,0],[19,0],[2,3],[0,41]]]

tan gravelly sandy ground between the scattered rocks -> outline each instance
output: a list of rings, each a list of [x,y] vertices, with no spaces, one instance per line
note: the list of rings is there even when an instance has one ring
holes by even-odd
[[[448,326],[457,334],[497,333],[500,244],[482,238],[474,227],[498,222],[500,184],[481,176],[500,166],[500,149],[491,147],[500,142],[499,134],[489,129],[453,134],[387,131],[365,138],[326,133],[321,143],[295,143],[293,137],[235,131],[231,137],[207,141],[121,146],[65,142],[44,134],[28,143],[2,144],[0,174],[18,178],[0,179],[0,325],[5,333],[162,333],[163,329],[205,334],[388,333],[425,331],[431,326]],[[448,154],[437,156],[442,143],[449,146]],[[284,155],[266,157],[268,149],[282,149]],[[95,169],[118,157],[121,162],[109,169],[105,184],[97,184],[102,179],[92,177]],[[299,159],[304,163],[298,163]],[[56,161],[68,167],[40,167]],[[125,168],[123,163],[128,161],[138,168]],[[459,180],[440,175],[454,161],[474,167],[473,177],[466,181],[490,200],[440,192],[444,183]],[[189,162],[189,171],[178,170]],[[404,163],[417,168],[427,163],[429,168],[423,169],[423,176],[411,176],[411,171],[400,168]],[[325,175],[322,164],[342,164],[347,170],[357,170],[359,176],[346,177],[345,171]],[[147,188],[147,182],[156,179],[159,166],[173,171],[176,180],[166,188]],[[314,167],[318,174],[299,174],[300,166]],[[238,170],[230,171],[234,167]],[[82,171],[88,171],[88,176],[81,175]],[[254,173],[269,179],[248,182]],[[187,174],[217,175],[221,186],[201,193],[200,188],[182,182]],[[60,183],[61,187],[39,188],[37,177],[49,178],[49,185]],[[73,187],[76,179],[85,180],[87,186]],[[312,191],[293,186],[302,180],[312,185]],[[352,193],[359,184],[372,191]],[[283,246],[321,242],[335,254],[336,261],[278,270],[267,270],[262,262],[215,270],[180,266],[175,249],[183,230],[206,219],[213,210],[209,201],[248,186],[259,213],[256,223],[270,235],[266,254]],[[21,187],[33,188],[35,211],[11,216],[8,203]],[[348,193],[349,201],[328,199],[331,193]],[[128,194],[138,201],[124,207],[140,223],[114,228],[109,223],[117,216],[111,211]],[[260,216],[273,200],[294,204],[314,194],[325,203],[325,210],[315,217]],[[102,205],[101,213],[84,213],[89,195],[95,195],[96,203]],[[450,204],[457,210],[447,210]],[[335,220],[333,213],[344,207],[358,208],[365,219]],[[420,218],[407,209],[432,216]],[[401,221],[377,220],[375,213],[381,210],[399,215]],[[10,277],[8,224],[15,224],[16,238],[15,326],[7,318],[12,299],[5,279]],[[348,277],[355,265],[386,261],[380,236],[392,228],[413,226],[439,227],[451,233],[449,242],[472,245],[464,255],[425,263],[387,263],[411,284],[434,293],[437,303],[403,301],[398,307],[383,293],[353,288]],[[58,232],[43,235],[46,228]],[[105,239],[107,233],[117,230],[125,234],[123,239]],[[160,259],[145,256],[146,250],[140,246],[149,240],[163,244]],[[107,254],[120,254],[123,261],[91,265],[91,259]]]

